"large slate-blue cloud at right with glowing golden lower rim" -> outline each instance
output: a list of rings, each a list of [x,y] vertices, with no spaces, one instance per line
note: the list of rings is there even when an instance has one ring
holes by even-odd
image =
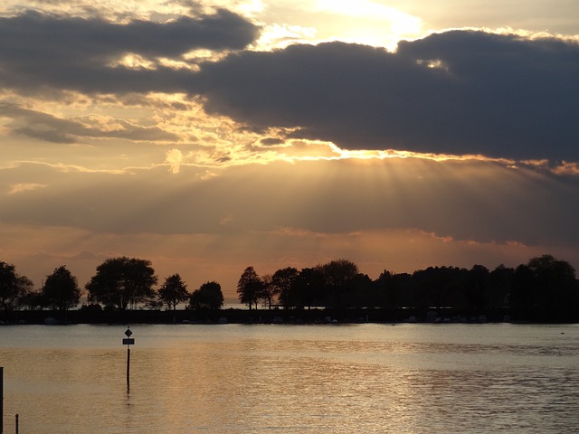
[[[579,45],[455,31],[397,52],[328,42],[204,65],[205,108],[356,149],[579,160]]]

